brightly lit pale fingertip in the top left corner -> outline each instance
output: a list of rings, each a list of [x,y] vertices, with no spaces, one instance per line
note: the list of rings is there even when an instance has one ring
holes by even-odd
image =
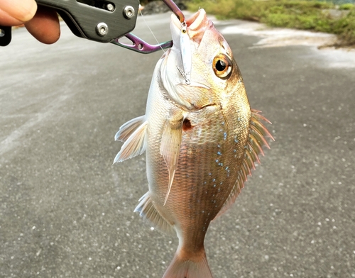
[[[33,18],[37,4],[34,0],[1,0],[1,10],[14,20],[20,21],[19,24],[21,24]],[[1,17],[1,23],[2,21]],[[18,22],[14,25],[18,25]]]

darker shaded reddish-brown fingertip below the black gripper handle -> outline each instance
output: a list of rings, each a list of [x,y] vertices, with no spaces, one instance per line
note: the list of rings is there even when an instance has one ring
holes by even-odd
[[[41,43],[55,43],[60,37],[58,15],[53,9],[38,6],[37,13],[25,26]]]

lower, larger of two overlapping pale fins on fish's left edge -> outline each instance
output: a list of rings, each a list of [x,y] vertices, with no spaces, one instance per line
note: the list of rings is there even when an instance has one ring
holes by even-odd
[[[141,155],[146,150],[146,129],[148,122],[144,121],[132,133],[130,131],[129,138],[126,139],[121,150],[114,158],[114,163],[128,160],[129,158]],[[128,130],[128,129],[127,129]]]

